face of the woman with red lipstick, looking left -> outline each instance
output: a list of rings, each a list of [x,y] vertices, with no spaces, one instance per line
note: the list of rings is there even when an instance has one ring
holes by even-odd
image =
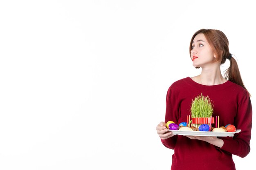
[[[201,68],[213,64],[216,59],[216,56],[203,33],[199,33],[195,36],[192,42],[190,57],[193,62],[193,66]]]

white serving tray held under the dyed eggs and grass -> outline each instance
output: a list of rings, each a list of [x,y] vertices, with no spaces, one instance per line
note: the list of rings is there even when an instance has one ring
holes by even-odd
[[[237,129],[236,132],[203,132],[203,131],[183,131],[183,130],[169,130],[173,132],[173,135],[184,135],[184,136],[217,136],[226,137],[233,136],[235,133],[241,132]]]

